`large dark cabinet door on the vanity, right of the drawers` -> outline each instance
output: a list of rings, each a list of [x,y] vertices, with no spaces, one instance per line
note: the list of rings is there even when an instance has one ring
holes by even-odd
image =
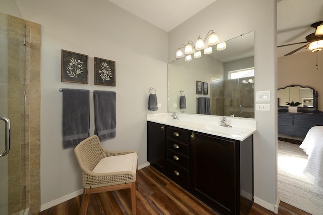
[[[194,132],[191,138],[193,192],[224,214],[236,214],[236,142]]]

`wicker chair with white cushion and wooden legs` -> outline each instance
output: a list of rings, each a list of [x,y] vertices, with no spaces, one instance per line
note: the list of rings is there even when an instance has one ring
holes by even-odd
[[[91,194],[127,188],[131,190],[132,214],[136,214],[136,151],[106,150],[93,135],[80,142],[74,152],[83,172],[81,214],[86,214]]]

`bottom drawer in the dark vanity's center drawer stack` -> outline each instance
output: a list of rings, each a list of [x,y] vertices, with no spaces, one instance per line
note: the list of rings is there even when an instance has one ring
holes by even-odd
[[[178,183],[183,187],[188,187],[189,184],[189,172],[188,170],[174,164],[173,162],[167,160],[166,162],[166,175],[173,181]]]

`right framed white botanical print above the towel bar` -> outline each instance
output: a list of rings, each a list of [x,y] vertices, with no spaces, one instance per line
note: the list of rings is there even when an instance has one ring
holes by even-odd
[[[94,57],[94,84],[116,86],[116,62]]]

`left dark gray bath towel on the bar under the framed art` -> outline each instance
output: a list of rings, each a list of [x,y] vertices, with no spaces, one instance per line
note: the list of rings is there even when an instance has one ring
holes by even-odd
[[[64,88],[62,93],[62,144],[66,149],[90,136],[90,91]]]

